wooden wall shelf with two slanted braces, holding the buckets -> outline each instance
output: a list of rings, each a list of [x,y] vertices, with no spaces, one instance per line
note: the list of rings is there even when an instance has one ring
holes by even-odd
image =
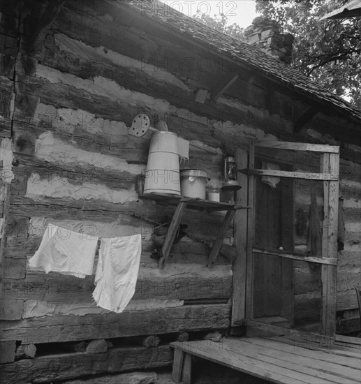
[[[172,221],[168,229],[167,237],[165,238],[165,242],[161,250],[159,269],[164,269],[165,267],[165,262],[168,259],[170,249],[172,248],[175,236],[177,235],[179,224],[182,220],[182,216],[186,207],[206,210],[209,212],[227,211],[227,214],[223,219],[222,226],[219,230],[219,234],[217,235],[216,240],[214,242],[214,246],[211,252],[209,253],[207,263],[209,268],[214,265],[216,257],[218,256],[219,251],[221,250],[221,246],[223,244],[224,238],[226,237],[228,227],[230,226],[230,223],[233,220],[233,217],[235,216],[235,211],[237,209],[249,209],[249,207],[242,207],[240,205],[230,204],[228,202],[215,202],[196,198],[185,198],[183,196],[168,195],[162,193],[146,193],[140,195],[140,198],[154,200],[157,203],[163,205],[177,206],[175,209],[175,214],[172,217]]]

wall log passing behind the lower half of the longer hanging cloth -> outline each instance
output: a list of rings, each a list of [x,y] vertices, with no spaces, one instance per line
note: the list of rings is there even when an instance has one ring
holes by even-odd
[[[209,274],[205,265],[172,264],[162,276],[156,268],[140,267],[133,300],[230,297],[232,276],[229,267],[214,268],[212,274]],[[188,272],[184,269],[188,269]],[[94,302],[91,295],[94,291],[94,275],[78,279],[55,272],[27,272],[25,279],[3,279],[1,287],[3,297],[8,299],[43,300],[61,304]]]

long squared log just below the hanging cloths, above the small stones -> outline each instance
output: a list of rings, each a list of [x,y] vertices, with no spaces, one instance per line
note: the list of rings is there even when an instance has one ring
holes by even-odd
[[[87,316],[56,316],[1,321],[3,340],[23,344],[110,339],[147,334],[224,329],[229,325],[228,304],[124,311]]]

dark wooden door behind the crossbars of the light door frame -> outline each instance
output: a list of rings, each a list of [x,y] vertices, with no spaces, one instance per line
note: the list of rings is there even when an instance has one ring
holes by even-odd
[[[256,167],[261,168],[261,162]],[[289,165],[277,164],[281,169]],[[253,248],[263,251],[293,252],[293,180],[280,179],[276,186],[270,186],[261,177],[255,180]],[[293,313],[286,313],[286,307],[293,308],[293,262],[288,273],[285,261],[278,256],[259,255],[254,257],[253,266],[253,318],[286,316],[290,325]],[[285,296],[284,291],[291,292]]]

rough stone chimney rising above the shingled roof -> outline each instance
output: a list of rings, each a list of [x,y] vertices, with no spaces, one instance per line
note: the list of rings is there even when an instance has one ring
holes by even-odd
[[[281,34],[279,24],[274,20],[256,17],[252,25],[245,29],[244,36],[246,36],[246,43],[290,64],[294,37],[291,34]]]

